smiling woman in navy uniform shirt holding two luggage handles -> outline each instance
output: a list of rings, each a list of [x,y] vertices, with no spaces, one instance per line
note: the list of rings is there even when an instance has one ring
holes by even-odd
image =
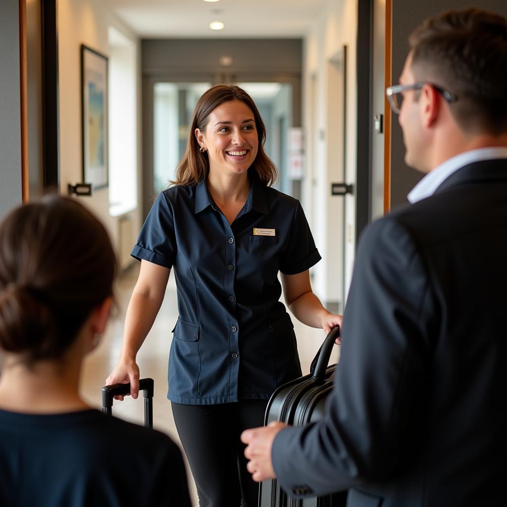
[[[199,99],[176,181],[162,192],[132,255],[141,260],[120,361],[106,382],[130,382],[160,309],[171,268],[178,313],[168,399],[201,507],[253,507],[245,428],[263,424],[275,388],[301,375],[291,317],[329,332],[341,316],[322,307],[309,268],[320,255],[298,200],[270,187],[265,127],[251,97],[218,85]]]

